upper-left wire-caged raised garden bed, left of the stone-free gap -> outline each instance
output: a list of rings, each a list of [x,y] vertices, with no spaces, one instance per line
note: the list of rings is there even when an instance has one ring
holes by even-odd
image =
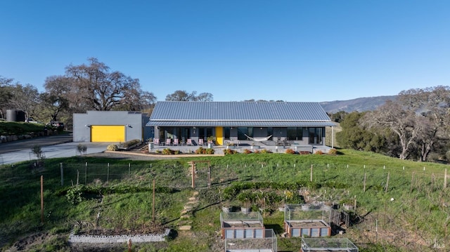
[[[259,212],[220,213],[222,238],[264,238],[264,220]]]

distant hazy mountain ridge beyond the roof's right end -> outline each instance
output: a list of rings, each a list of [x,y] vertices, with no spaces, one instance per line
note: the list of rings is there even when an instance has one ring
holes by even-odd
[[[329,114],[333,114],[340,111],[345,112],[364,112],[364,111],[372,111],[377,107],[385,104],[387,100],[395,100],[397,99],[397,95],[390,96],[375,96],[375,97],[366,97],[366,98],[356,98],[353,100],[335,100],[333,102],[319,102],[323,110],[328,112]]]

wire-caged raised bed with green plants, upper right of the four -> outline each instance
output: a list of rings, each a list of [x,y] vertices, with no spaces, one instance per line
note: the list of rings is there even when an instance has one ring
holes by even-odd
[[[284,224],[288,237],[329,237],[330,207],[325,204],[285,204]]]

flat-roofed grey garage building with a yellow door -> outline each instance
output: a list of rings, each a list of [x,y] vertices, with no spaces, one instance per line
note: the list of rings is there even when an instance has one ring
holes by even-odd
[[[73,114],[74,142],[127,142],[153,136],[145,127],[147,114],[127,111],[88,111]]]

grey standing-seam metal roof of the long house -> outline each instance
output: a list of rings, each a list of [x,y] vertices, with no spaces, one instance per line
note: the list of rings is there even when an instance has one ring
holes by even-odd
[[[158,102],[147,126],[335,126],[318,102]]]

